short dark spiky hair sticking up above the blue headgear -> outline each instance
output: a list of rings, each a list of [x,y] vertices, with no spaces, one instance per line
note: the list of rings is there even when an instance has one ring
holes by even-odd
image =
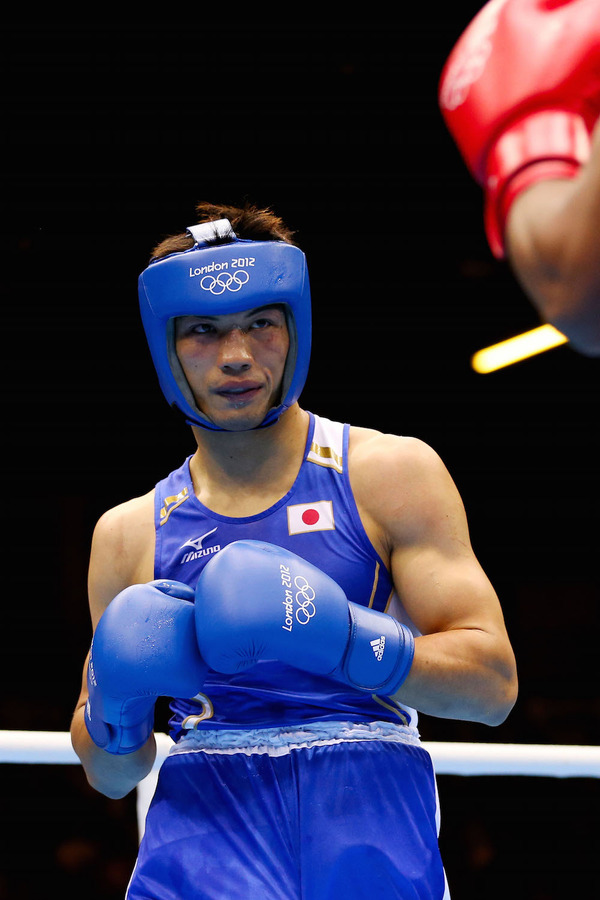
[[[251,241],[285,241],[294,244],[293,235],[279,216],[269,209],[259,209],[251,203],[244,206],[228,206],[226,204],[202,202],[196,206],[197,224],[214,222],[217,219],[229,219],[238,237]],[[229,238],[218,238],[215,243],[227,243]],[[160,259],[169,253],[181,253],[193,247],[194,239],[189,232],[174,234],[162,240],[152,251],[152,259]]]

